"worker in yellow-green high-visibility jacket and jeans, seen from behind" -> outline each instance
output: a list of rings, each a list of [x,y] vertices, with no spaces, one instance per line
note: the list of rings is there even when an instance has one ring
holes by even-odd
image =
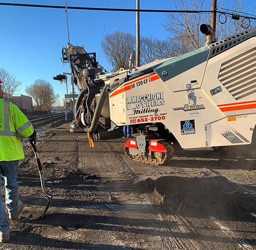
[[[19,160],[24,158],[20,136],[36,139],[32,123],[14,103],[3,99],[0,79],[0,175],[5,180],[5,200],[9,219],[15,220],[23,210],[17,182]],[[0,178],[1,187],[1,178]],[[0,188],[1,197],[1,188]],[[0,202],[0,242],[10,240],[10,221],[3,202]]]

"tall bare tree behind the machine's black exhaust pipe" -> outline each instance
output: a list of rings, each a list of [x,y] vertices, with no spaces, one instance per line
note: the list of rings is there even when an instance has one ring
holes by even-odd
[[[253,6],[252,1],[237,0],[230,3],[230,1],[220,1],[217,5],[217,10],[239,14],[242,11],[248,10],[249,2]],[[184,11],[182,13],[168,13],[167,21],[163,27],[169,32],[169,39],[173,46],[173,52],[175,55],[184,54],[195,49],[199,49],[205,45],[205,35],[200,32],[201,24],[211,24],[211,13],[188,13],[185,11],[211,11],[212,1],[204,0],[173,0],[170,10],[176,9]],[[224,5],[225,4],[225,5]],[[228,4],[230,6],[228,6]],[[232,11],[231,11],[232,10]],[[255,11],[255,10],[254,10]],[[215,37],[217,40],[229,37],[231,35],[241,32],[243,27],[241,26],[242,20],[233,20],[231,17],[227,18],[227,21],[223,24],[219,22],[219,14],[217,15],[218,22],[216,23]],[[223,15],[226,17],[226,15]]]

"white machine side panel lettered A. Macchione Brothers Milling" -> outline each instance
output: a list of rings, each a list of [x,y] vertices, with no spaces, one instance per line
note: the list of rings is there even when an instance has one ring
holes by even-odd
[[[200,72],[198,76],[202,78],[205,67],[206,62],[166,82],[157,74],[126,82],[109,95],[111,119],[117,126],[161,122],[182,148],[206,147],[205,124],[223,118],[223,113],[202,88],[184,87],[175,92],[168,88],[170,85],[182,84],[183,79],[186,82],[189,75],[194,77],[194,71]]]

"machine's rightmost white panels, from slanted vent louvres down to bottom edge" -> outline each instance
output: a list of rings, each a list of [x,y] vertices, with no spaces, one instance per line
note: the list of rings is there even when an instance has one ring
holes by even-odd
[[[250,144],[256,124],[256,37],[208,61],[202,88],[225,117],[206,124],[208,146]]]

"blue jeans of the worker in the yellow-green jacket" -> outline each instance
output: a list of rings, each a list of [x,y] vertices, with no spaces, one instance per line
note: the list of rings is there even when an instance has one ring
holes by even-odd
[[[19,170],[19,161],[0,162],[0,175],[5,179],[6,189],[6,208],[8,212],[15,213],[18,210],[19,185],[17,182]],[[1,185],[1,178],[0,178]],[[1,195],[1,189],[0,189]],[[0,233],[7,233],[10,230],[10,221],[7,220],[7,214],[3,202],[0,202]]]

